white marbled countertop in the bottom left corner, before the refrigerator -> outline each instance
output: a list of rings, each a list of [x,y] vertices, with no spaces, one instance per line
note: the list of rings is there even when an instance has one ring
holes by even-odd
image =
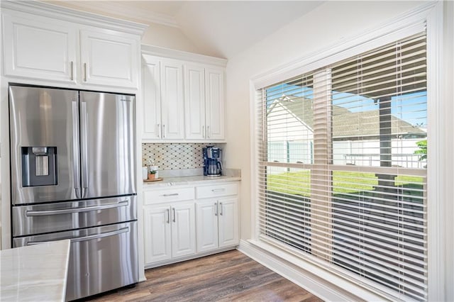
[[[65,301],[70,240],[0,251],[0,301]]]

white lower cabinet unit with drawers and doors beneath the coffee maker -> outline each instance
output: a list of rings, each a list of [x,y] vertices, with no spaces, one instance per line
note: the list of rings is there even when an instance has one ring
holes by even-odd
[[[145,189],[143,196],[146,267],[238,245],[237,182]]]

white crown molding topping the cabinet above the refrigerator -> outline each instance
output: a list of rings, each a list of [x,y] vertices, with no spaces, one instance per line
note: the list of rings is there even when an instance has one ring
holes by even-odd
[[[123,33],[143,35],[148,25],[121,19],[101,16],[96,13],[87,13],[74,9],[67,9],[62,6],[46,4],[40,1],[0,1],[1,9],[11,9],[21,13],[32,13],[38,16],[60,19],[87,26],[96,26],[110,30],[118,30]]]

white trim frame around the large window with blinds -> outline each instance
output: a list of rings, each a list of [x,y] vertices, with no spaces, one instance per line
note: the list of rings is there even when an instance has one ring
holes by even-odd
[[[336,43],[331,47],[327,47],[319,52],[309,54],[306,57],[302,57],[299,60],[289,62],[289,64],[277,67],[275,69],[260,74],[254,77],[250,81],[250,112],[251,112],[251,227],[252,227],[252,240],[259,246],[266,245],[259,240],[259,206],[258,206],[258,133],[256,133],[256,125],[258,122],[258,108],[256,107],[256,94],[258,89],[265,86],[270,86],[279,81],[290,79],[297,76],[298,74],[304,74],[311,70],[319,69],[324,66],[331,65],[334,62],[345,60],[348,57],[358,55],[362,52],[372,50],[376,47],[392,43],[395,40],[406,38],[410,35],[418,33],[421,28],[426,27],[427,33],[427,102],[428,102],[428,144],[431,146],[433,154],[437,154],[436,157],[431,156],[431,152],[428,152],[428,162],[431,164],[427,169],[427,186],[428,186],[428,299],[429,300],[444,300],[444,256],[445,250],[439,247],[443,247],[445,233],[443,232],[445,220],[443,213],[443,203],[445,198],[445,187],[448,186],[448,180],[442,178],[442,171],[444,167],[443,159],[448,157],[448,152],[437,152],[437,150],[443,150],[443,135],[447,133],[444,127],[445,121],[441,121],[437,116],[443,112],[443,100],[441,85],[441,71],[442,62],[441,57],[443,51],[441,49],[441,40],[443,38],[443,3],[430,3],[420,6],[419,9],[405,13],[399,18],[395,18],[392,21],[386,23],[386,25],[375,28],[368,32],[362,33],[356,37],[344,40],[343,43]],[[273,248],[270,247],[270,250]],[[277,252],[282,257],[282,252]],[[277,255],[279,257],[279,255]],[[305,260],[301,260],[303,263]],[[322,272],[321,267],[317,263],[307,263],[315,265],[305,265],[305,269],[309,269],[317,275],[326,274]],[[334,272],[332,272],[335,274]],[[333,275],[335,276],[335,275]],[[331,276],[330,276],[331,277]],[[331,279],[334,284],[341,284],[348,281],[348,276],[336,275],[334,279]],[[358,285],[350,284],[352,291],[358,289]],[[347,289],[348,290],[348,289]],[[367,296],[367,290],[364,291],[362,288],[359,292],[362,295]],[[373,293],[384,298],[390,298],[386,293],[381,291],[374,291]],[[370,298],[370,297],[369,297]]]

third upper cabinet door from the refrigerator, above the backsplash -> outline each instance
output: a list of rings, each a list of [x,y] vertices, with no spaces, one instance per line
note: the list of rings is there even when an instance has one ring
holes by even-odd
[[[185,135],[189,140],[206,136],[204,75],[204,67],[184,65]]]

